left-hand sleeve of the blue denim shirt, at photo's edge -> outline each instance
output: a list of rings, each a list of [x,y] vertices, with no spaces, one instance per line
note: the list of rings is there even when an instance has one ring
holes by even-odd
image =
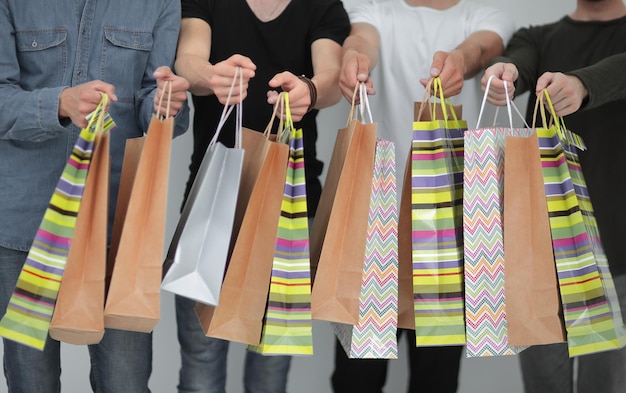
[[[0,139],[41,142],[67,130],[59,121],[63,86],[23,90],[18,82],[16,34],[4,1],[0,2]]]

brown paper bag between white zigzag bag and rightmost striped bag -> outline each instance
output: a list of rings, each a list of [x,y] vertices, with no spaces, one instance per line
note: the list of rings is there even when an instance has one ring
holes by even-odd
[[[507,137],[504,158],[504,289],[508,341],[565,341],[537,134]]]

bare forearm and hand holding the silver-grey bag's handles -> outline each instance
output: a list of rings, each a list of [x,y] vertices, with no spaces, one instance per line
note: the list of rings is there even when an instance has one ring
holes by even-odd
[[[241,67],[243,96],[239,97],[237,80],[230,104],[241,102],[247,95],[248,81],[254,77],[256,66],[249,58],[241,55],[233,55],[213,65],[209,63],[210,55],[211,26],[202,19],[184,18],[181,22],[175,64],[178,75],[187,79],[191,93],[198,96],[215,94],[224,104],[235,69]]]

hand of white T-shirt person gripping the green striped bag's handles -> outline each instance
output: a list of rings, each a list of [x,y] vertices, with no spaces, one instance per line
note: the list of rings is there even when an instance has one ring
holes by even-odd
[[[441,79],[444,97],[449,98],[461,92],[464,75],[465,60],[460,51],[435,52],[430,66],[430,76],[431,78],[438,76]],[[420,83],[426,87],[428,79],[420,79]]]

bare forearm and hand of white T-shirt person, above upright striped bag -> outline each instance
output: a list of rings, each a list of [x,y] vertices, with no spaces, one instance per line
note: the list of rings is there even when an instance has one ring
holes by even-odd
[[[482,71],[489,60],[502,54],[502,38],[492,31],[477,31],[450,52],[435,52],[430,76],[441,78],[444,95],[451,97],[461,92],[463,81]],[[428,80],[422,79],[426,86]]]

